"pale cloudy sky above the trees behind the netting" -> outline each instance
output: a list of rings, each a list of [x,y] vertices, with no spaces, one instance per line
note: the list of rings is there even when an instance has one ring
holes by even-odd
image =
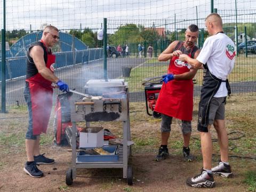
[[[236,0],[238,10],[255,13],[256,0]],[[98,29],[103,18],[113,31],[125,23],[145,27],[184,28],[189,23],[204,27],[204,18],[210,13],[210,0],[5,0],[6,29],[42,29],[44,25],[62,30],[89,27]],[[235,0],[214,0],[214,8],[221,13],[234,14]],[[253,11],[254,9],[254,11]],[[249,11],[249,12],[250,12]],[[244,13],[245,11],[243,11]],[[246,11],[247,13],[248,11]],[[250,12],[250,13],[251,13]],[[255,15],[255,14],[254,14]],[[196,20],[197,18],[197,20]],[[3,26],[3,0],[0,1],[0,25]],[[234,20],[234,17],[229,17]],[[238,20],[242,20],[242,16]],[[246,19],[255,19],[247,16]],[[187,22],[183,22],[183,21]],[[178,22],[175,26],[172,24]],[[229,21],[230,22],[230,21]],[[255,20],[254,20],[255,22]]]

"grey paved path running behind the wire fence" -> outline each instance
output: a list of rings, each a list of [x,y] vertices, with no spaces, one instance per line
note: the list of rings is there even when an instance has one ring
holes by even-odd
[[[131,66],[137,67],[145,62],[145,58],[108,58],[108,78],[119,78],[122,77],[122,67]],[[165,65],[167,62],[161,62],[161,65]],[[159,63],[147,64],[147,66],[155,66]],[[77,91],[83,92],[83,87],[89,79],[101,79],[103,78],[103,60],[94,61],[88,65],[76,65],[65,69],[60,69],[55,74],[66,81],[70,89],[76,89]],[[25,78],[13,79],[12,81],[6,82],[6,105],[24,105],[25,101],[23,98],[23,90],[25,86]],[[250,94],[255,95],[256,93],[256,82],[241,82],[231,83],[232,93]],[[1,87],[1,86],[0,86]],[[195,85],[194,95],[200,95],[201,86]],[[59,90],[54,90],[55,95],[59,94]],[[0,93],[0,98],[2,97]],[[55,98],[55,97],[54,97]],[[145,101],[145,93],[131,92],[131,102],[143,102]]]

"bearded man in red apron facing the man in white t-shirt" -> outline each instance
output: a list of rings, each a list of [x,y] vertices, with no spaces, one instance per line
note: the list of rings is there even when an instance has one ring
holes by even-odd
[[[191,135],[191,120],[193,113],[193,77],[197,70],[189,69],[186,63],[179,61],[180,54],[196,58],[199,49],[195,46],[198,37],[198,27],[190,25],[185,33],[185,41],[174,41],[158,57],[159,61],[171,60],[168,74],[163,76],[163,85],[158,95],[155,111],[162,114],[161,146],[156,161],[169,156],[167,142],[170,136],[172,118],[181,120],[183,134],[183,156],[192,161],[189,149]]]

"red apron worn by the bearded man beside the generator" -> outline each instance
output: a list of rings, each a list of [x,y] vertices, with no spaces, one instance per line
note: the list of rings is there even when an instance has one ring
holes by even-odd
[[[191,49],[192,52],[193,49]],[[191,57],[191,52],[188,54]],[[183,74],[189,71],[186,66],[180,66],[176,59],[172,57],[168,74]],[[172,80],[163,83],[155,106],[155,111],[167,116],[178,118],[185,121],[192,120],[193,114],[193,80]]]

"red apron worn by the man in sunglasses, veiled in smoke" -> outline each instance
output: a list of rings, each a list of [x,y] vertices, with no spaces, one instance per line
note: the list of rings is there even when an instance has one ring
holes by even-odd
[[[41,40],[42,43],[44,43]],[[46,50],[47,52],[47,50]],[[46,67],[53,73],[55,55],[47,52]],[[33,134],[46,133],[52,110],[52,82],[37,73],[35,76],[26,79],[29,83],[29,90],[32,103]]]

